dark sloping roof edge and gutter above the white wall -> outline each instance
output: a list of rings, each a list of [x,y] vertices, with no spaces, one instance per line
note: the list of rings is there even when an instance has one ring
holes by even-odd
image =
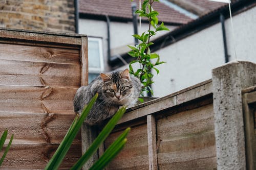
[[[232,1],[231,4],[232,15],[239,14],[255,6],[255,0],[234,0]],[[165,46],[175,43],[189,35],[197,33],[205,28],[214,25],[215,23],[220,22],[220,14],[223,14],[225,18],[229,18],[229,9],[227,4],[199,17],[196,20],[188,22],[186,25],[183,25],[175,29],[174,31],[168,32],[167,34],[164,34],[161,37],[156,38],[154,40],[154,44],[151,46],[151,52],[160,50]],[[121,54],[120,57],[122,57],[127,63],[134,59],[133,57],[130,57],[127,53]],[[111,66],[113,68],[121,65],[123,65],[123,63],[120,62],[120,59],[112,58]]]

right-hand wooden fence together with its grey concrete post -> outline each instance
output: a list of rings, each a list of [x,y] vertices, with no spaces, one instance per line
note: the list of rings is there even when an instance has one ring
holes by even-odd
[[[99,150],[132,128],[106,169],[255,169],[255,72],[254,63],[232,62],[211,80],[130,108]]]

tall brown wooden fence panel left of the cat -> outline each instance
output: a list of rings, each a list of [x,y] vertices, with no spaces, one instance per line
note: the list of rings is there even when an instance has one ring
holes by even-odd
[[[2,168],[44,169],[88,83],[87,53],[85,35],[0,29],[0,132],[14,134]],[[60,169],[80,156],[78,135]]]

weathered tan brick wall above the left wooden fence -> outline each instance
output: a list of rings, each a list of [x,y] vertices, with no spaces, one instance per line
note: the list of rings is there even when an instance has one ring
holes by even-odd
[[[0,27],[74,33],[74,0],[0,0]]]

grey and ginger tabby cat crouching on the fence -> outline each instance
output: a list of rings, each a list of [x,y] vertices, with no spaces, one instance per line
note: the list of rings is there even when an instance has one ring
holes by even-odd
[[[129,69],[101,73],[88,86],[81,86],[77,90],[74,111],[81,113],[84,105],[98,93],[99,96],[84,122],[90,126],[99,125],[104,119],[113,116],[120,106],[135,106],[140,92],[140,80],[130,75]]]

